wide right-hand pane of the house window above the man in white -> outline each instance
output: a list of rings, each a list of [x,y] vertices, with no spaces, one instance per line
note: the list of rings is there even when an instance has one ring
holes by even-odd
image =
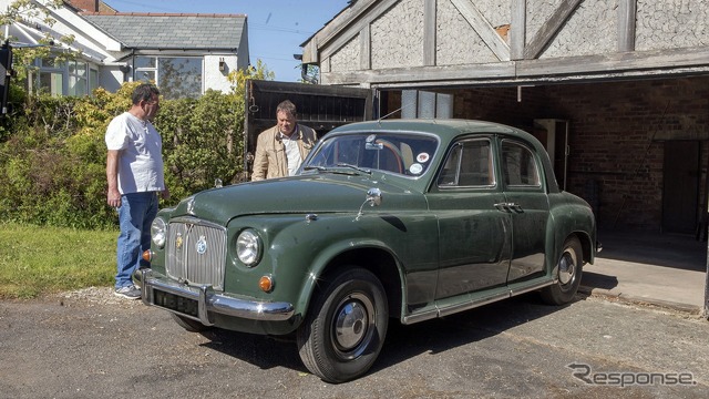
[[[161,58],[157,71],[157,84],[165,99],[202,95],[202,59]]]

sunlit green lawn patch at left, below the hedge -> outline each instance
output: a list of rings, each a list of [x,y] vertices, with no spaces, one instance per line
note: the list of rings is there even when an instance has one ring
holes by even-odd
[[[119,231],[0,224],[0,298],[111,286]]]

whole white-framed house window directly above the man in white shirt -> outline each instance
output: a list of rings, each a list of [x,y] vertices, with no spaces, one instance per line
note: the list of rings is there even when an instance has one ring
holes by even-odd
[[[134,58],[134,80],[152,81],[165,99],[198,98],[203,92],[201,57]]]

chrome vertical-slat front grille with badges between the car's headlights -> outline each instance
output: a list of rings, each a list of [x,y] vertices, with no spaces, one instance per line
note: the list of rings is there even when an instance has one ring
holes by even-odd
[[[224,289],[226,229],[188,219],[172,222],[167,229],[166,272],[172,278]]]

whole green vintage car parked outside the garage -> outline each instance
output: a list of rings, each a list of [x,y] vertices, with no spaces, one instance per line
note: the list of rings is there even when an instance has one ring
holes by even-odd
[[[364,374],[404,325],[540,290],[574,299],[594,214],[559,191],[542,144],[462,120],[328,133],[297,176],[197,193],[162,209],[143,301],[188,330],[295,335],[325,381]]]

